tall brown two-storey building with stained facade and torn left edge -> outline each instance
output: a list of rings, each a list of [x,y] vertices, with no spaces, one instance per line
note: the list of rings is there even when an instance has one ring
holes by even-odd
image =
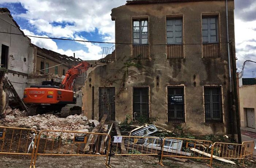
[[[111,16],[115,62],[88,75],[83,109],[89,119],[107,114],[124,121],[128,114],[169,129],[236,134],[225,0],[134,0],[112,9]],[[235,57],[233,0],[228,24]]]

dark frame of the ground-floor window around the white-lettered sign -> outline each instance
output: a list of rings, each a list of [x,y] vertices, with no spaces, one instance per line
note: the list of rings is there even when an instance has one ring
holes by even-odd
[[[169,89],[174,89],[174,93],[171,94],[169,93]],[[176,94],[177,93],[177,89],[182,89],[182,94]],[[170,101],[170,97],[171,96],[175,96],[175,95],[182,95],[183,96],[183,104],[172,104],[171,101]],[[168,86],[167,87],[167,113],[168,113],[168,122],[185,122],[185,102],[184,102],[184,99],[185,99],[185,95],[184,95],[184,87],[183,86],[179,86],[179,87],[176,87],[176,86]],[[174,107],[174,109],[171,109],[171,107]],[[182,107],[182,110],[181,109],[178,109],[178,107]],[[174,117],[170,117],[171,115],[171,111],[174,112]],[[177,111],[183,111],[183,117],[177,117]]]

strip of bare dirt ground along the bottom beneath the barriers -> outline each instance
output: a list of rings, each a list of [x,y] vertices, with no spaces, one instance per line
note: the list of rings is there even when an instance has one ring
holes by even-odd
[[[105,157],[77,157],[77,156],[38,156],[36,162],[36,168],[104,168],[106,158]],[[110,165],[113,168],[162,168],[156,162],[157,157],[151,156],[114,156],[111,157]],[[195,162],[187,161],[186,163],[177,162],[172,160],[163,160],[164,167],[170,168],[209,168],[204,161]],[[255,162],[254,162],[255,163]],[[0,167],[1,168],[26,168],[30,165],[30,158],[24,156],[10,156],[10,155],[0,155]],[[240,165],[232,165],[226,163],[220,163],[214,161],[215,168],[240,168]],[[248,168],[256,167],[255,164],[250,164]]]

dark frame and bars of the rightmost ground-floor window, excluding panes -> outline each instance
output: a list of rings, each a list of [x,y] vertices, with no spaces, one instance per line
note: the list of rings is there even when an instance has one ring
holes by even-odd
[[[209,122],[223,122],[223,112],[222,112],[222,92],[221,86],[205,86],[204,87],[204,106],[205,106],[205,121]],[[207,94],[207,89],[209,89],[209,94]],[[218,93],[214,93],[214,89],[218,89]],[[207,101],[207,96],[209,96]],[[218,97],[218,101],[213,101],[214,96]],[[216,98],[216,97],[215,97]],[[214,104],[218,104],[219,108],[214,109]],[[215,111],[215,113],[214,113]],[[210,113],[210,117],[207,117]],[[218,114],[217,114],[218,113]],[[214,117],[214,115],[219,115],[219,117]]]

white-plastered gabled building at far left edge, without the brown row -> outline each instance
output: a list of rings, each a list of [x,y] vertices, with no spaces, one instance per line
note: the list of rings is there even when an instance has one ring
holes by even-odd
[[[28,75],[35,72],[34,47],[7,8],[0,8],[0,31],[7,32],[0,33],[1,67],[8,70],[5,76],[12,82],[19,96],[23,96]]]

